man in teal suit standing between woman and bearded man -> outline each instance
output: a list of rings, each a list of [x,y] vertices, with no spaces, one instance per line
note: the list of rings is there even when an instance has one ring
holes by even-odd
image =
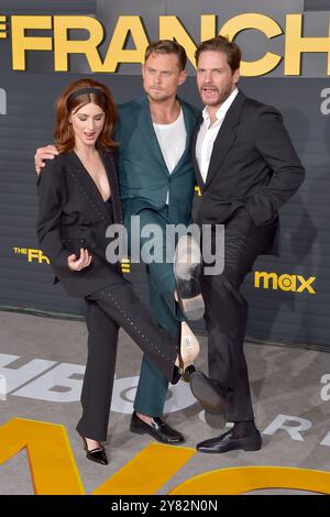
[[[118,167],[129,230],[132,216],[140,216],[141,229],[155,223],[163,235],[166,224],[191,221],[195,174],[190,142],[199,113],[176,96],[178,86],[186,80],[186,61],[184,47],[176,42],[163,40],[148,45],[142,67],[145,95],[119,107]],[[140,239],[140,246],[144,242]],[[165,256],[165,239],[163,242]],[[174,297],[173,264],[166,261],[148,264],[147,278],[153,315],[176,336],[183,318]],[[131,431],[147,432],[166,443],[180,443],[182,433],[161,419],[166,393],[167,381],[143,358]]]

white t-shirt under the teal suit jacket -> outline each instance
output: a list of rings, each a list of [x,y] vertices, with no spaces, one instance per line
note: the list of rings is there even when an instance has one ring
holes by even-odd
[[[170,124],[153,123],[158,144],[166,163],[168,173],[172,174],[177,166],[186,148],[187,131],[184,113],[180,109],[178,118]],[[168,193],[166,204],[168,205]]]

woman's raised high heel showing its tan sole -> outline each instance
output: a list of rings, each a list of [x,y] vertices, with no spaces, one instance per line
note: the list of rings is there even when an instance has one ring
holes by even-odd
[[[189,376],[195,372],[194,361],[199,355],[199,342],[186,321],[182,322],[180,349],[178,351],[178,365],[174,366],[172,384],[177,384],[180,378],[189,382]]]

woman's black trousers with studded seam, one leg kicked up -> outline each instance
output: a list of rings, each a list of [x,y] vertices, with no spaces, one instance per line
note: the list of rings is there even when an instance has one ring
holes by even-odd
[[[161,329],[134,294],[131,284],[119,283],[87,297],[88,359],[81,391],[82,417],[77,431],[87,438],[107,438],[113,387],[118,330],[122,327],[150,358],[158,375],[172,380],[177,340]]]

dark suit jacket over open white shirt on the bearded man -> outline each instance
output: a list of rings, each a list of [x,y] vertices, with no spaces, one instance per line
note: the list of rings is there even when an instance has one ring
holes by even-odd
[[[276,220],[305,175],[280,113],[239,91],[215,141],[206,183],[195,155],[197,134],[194,166],[202,195],[197,221],[224,223],[240,206],[256,226]],[[278,253],[278,232],[265,252]]]

